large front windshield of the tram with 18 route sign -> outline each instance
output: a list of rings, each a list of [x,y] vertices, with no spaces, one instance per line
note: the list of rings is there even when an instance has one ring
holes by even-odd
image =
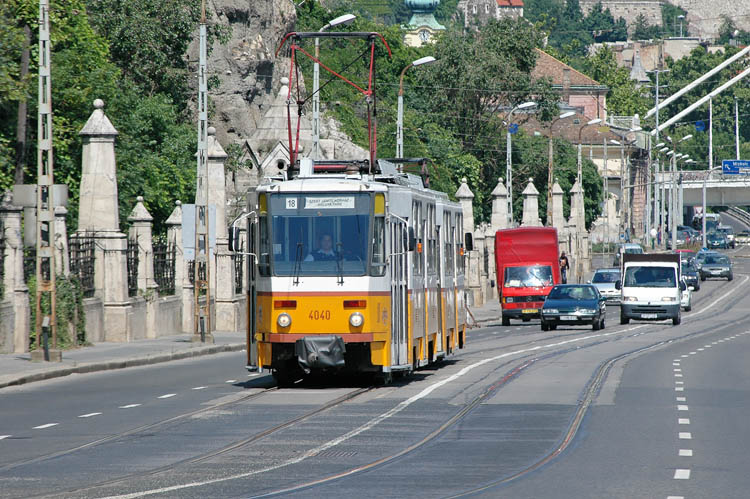
[[[365,275],[371,211],[364,193],[271,195],[261,265],[270,261],[277,276]]]

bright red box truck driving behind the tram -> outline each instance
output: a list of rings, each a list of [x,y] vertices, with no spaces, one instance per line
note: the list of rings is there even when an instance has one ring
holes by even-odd
[[[539,318],[544,300],[559,284],[557,229],[521,227],[495,234],[495,268],[503,326],[511,319]]]

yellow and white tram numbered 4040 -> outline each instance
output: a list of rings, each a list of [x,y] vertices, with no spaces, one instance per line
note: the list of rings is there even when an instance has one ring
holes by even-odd
[[[386,160],[320,163],[249,198],[248,365],[387,381],[462,348],[460,205]]]

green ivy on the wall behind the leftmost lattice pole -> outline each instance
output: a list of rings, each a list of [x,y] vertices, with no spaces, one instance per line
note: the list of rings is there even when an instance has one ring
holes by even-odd
[[[37,331],[36,325],[36,276],[28,279],[29,308],[31,309],[31,325],[29,347],[36,349]],[[57,318],[57,346],[58,348],[70,348],[83,344],[86,341],[86,311],[83,307],[83,290],[81,283],[75,276],[65,277],[60,274],[55,278],[55,317]],[[49,293],[42,293],[41,308],[44,315],[50,315]],[[73,331],[73,337],[71,337]],[[52,333],[50,332],[50,335]],[[50,347],[52,339],[50,337]]]

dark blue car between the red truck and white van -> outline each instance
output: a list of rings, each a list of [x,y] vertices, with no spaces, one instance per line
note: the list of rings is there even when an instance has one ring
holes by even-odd
[[[606,299],[592,284],[558,284],[549,292],[542,307],[542,331],[558,325],[591,324],[595,331],[604,328]]]

